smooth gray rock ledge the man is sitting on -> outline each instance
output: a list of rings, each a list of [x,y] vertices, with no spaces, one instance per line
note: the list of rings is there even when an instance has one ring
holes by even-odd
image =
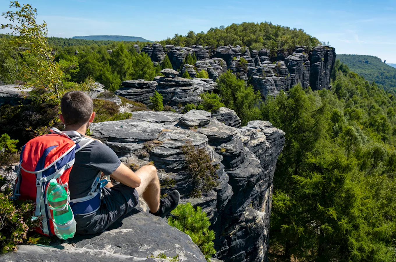
[[[179,261],[206,262],[188,235],[141,209],[135,209],[100,235],[77,235],[60,245],[21,245],[18,252],[0,256],[0,261],[167,262],[149,258],[160,253],[170,258],[179,256]]]

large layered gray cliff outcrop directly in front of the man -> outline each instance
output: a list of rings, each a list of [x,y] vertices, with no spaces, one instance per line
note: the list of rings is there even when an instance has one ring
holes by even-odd
[[[265,261],[272,179],[284,132],[265,121],[249,122],[242,128],[225,125],[218,119],[231,119],[232,112],[227,111],[191,110],[184,115],[139,111],[132,112],[129,120],[92,124],[91,130],[121,161],[137,165],[153,161],[162,183],[174,181],[162,194],[176,188],[183,202],[202,206],[216,233],[218,258]],[[229,121],[234,122],[238,121]],[[181,150],[187,141],[204,148],[218,167],[217,187],[201,198],[189,196],[192,183]]]

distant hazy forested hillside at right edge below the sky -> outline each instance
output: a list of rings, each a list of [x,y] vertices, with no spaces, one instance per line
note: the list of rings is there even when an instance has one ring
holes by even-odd
[[[386,65],[378,57],[371,55],[337,55],[350,70],[363,76],[370,82],[375,82],[385,90],[396,91],[396,68]],[[367,61],[368,63],[365,63]]]

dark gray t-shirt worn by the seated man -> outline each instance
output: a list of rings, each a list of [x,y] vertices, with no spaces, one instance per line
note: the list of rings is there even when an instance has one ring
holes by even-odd
[[[70,171],[70,199],[87,196],[99,171],[110,175],[120,164],[121,161],[116,153],[107,145],[97,140],[88,144],[76,153],[75,162]]]

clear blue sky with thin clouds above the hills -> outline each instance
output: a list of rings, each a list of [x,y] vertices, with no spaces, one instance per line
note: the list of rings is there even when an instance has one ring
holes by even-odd
[[[20,3],[25,3],[20,1]],[[30,0],[49,36],[141,36],[162,40],[175,33],[206,32],[232,23],[270,21],[302,28],[339,54],[375,55],[396,63],[395,0]],[[0,0],[0,10],[9,2]],[[1,19],[0,19],[1,21]],[[2,32],[2,30],[0,30]],[[3,31],[4,32],[4,31]]]

